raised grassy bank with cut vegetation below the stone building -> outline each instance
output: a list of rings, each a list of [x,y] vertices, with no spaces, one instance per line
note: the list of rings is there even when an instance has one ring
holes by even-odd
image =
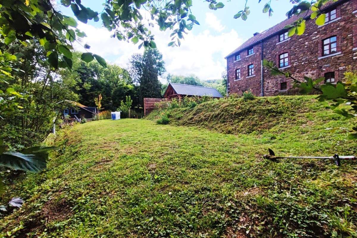
[[[310,117],[319,111],[330,114],[318,113],[319,122],[323,125],[331,118],[338,119],[337,115],[331,115],[327,103],[316,103],[316,96],[282,96],[259,97],[252,101],[242,101],[241,98],[231,100],[215,100],[197,105],[194,108],[174,108],[165,110],[170,117],[171,125],[187,125],[207,128],[212,131],[241,134],[262,133],[268,129],[290,128],[291,125],[304,124],[306,117]],[[308,112],[308,113],[306,113]],[[146,118],[155,120],[162,111],[154,111]],[[300,115],[302,114],[302,115]],[[314,116],[315,116],[314,114]],[[302,119],[303,121],[296,121]]]

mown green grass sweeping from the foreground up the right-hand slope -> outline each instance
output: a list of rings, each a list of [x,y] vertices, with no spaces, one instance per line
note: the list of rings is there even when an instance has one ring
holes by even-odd
[[[270,107],[258,103],[264,100],[277,99],[232,105],[262,112],[259,107]],[[279,155],[356,154],[356,143],[325,130],[344,125],[321,111],[326,104],[310,97],[296,97],[295,106],[287,103],[293,97],[280,100],[274,107],[283,104],[284,110],[245,114],[242,126],[220,119],[221,127],[244,131],[250,117],[260,128],[250,134],[134,119],[77,125],[59,140],[47,172],[18,179],[2,197],[20,195],[26,203],[1,221],[0,230],[19,237],[356,236],[356,162],[337,168],[329,161],[262,159],[267,148]],[[229,107],[211,103],[167,112],[172,123],[187,125],[194,113],[206,118],[200,107],[212,108],[207,112],[218,118],[220,103]],[[176,112],[186,117],[175,121]],[[197,124],[224,131],[205,121]],[[19,224],[24,228],[15,231]]]

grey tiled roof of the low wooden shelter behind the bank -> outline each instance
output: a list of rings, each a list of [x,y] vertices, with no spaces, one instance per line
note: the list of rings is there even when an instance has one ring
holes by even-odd
[[[223,97],[216,88],[170,83],[177,94],[192,96]]]

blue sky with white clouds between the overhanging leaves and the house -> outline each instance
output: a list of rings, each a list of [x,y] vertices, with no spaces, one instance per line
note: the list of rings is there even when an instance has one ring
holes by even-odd
[[[92,10],[101,12],[104,0],[82,0],[82,4]],[[171,37],[168,30],[161,32],[154,27],[157,48],[163,54],[166,66],[166,74],[190,75],[195,74],[202,80],[217,79],[225,70],[224,57],[240,46],[244,41],[253,36],[255,32],[272,27],[286,19],[285,13],[291,9],[289,0],[272,0],[273,16],[262,13],[266,0],[258,3],[258,0],[248,0],[251,14],[246,21],[234,19],[233,16],[244,8],[244,0],[222,1],[225,7],[218,10],[210,10],[208,3],[193,0],[192,14],[200,22],[193,27],[181,47],[168,47]],[[65,15],[73,16],[70,7],[61,7]],[[147,14],[147,16],[150,16]],[[137,46],[128,42],[121,42],[110,38],[111,32],[101,27],[99,22],[89,21],[87,24],[79,22],[79,28],[86,32],[87,37],[83,43],[91,46],[90,51],[99,54],[107,61],[121,67],[127,67],[130,56],[134,53],[142,53]],[[81,47],[77,50],[83,51]],[[163,81],[163,80],[161,80]]]

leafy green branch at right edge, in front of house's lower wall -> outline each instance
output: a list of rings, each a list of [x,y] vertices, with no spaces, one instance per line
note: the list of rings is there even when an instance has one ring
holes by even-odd
[[[319,91],[321,95],[317,97],[318,101],[331,102],[331,110],[344,117],[344,120],[353,120],[352,129],[348,135],[349,139],[357,140],[357,74],[356,72],[345,72],[343,82],[338,81],[336,85],[325,82],[324,77],[318,79],[312,79],[310,77],[304,77],[302,80],[298,80],[292,76],[290,72],[284,72],[274,66],[273,61],[263,60],[263,67],[270,69],[271,75],[285,75],[285,77],[291,79],[294,83],[294,87],[300,89],[300,93],[307,94],[313,90]],[[340,107],[342,105],[348,106],[347,108]],[[336,131],[339,128],[333,128],[332,131]]]

